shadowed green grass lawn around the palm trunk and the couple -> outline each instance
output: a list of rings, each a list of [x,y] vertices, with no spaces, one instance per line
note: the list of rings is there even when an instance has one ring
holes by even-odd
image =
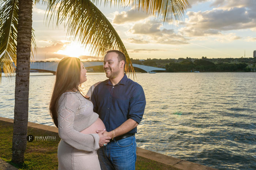
[[[27,134],[35,136],[55,137],[52,141],[34,141],[27,142],[25,152],[25,162],[23,165],[16,165],[11,162],[12,159],[12,132],[13,123],[0,120],[0,158],[14,165],[20,170],[34,169],[58,169],[57,147],[60,142],[59,135],[54,132],[45,131],[33,127],[28,127]],[[137,156],[136,169],[138,170],[178,170],[175,167],[165,165],[147,158]]]

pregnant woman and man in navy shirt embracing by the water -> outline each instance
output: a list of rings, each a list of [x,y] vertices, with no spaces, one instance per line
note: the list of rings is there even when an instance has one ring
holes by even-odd
[[[59,170],[134,170],[137,125],[146,99],[143,88],[124,74],[125,55],[106,52],[103,68],[109,78],[90,87],[79,85],[86,69],[78,58],[64,58],[57,67],[50,114],[59,129]]]

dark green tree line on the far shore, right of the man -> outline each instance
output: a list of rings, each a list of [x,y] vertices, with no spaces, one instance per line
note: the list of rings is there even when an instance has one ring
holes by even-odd
[[[131,59],[133,64],[142,64],[166,68],[166,72],[183,71],[255,71],[256,58],[217,58],[202,59],[179,58],[179,59]],[[249,67],[250,65],[250,67]]]

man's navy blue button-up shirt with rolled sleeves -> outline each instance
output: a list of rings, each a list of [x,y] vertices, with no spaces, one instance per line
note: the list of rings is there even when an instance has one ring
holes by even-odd
[[[98,84],[91,95],[93,111],[106,126],[106,131],[112,131],[128,119],[140,123],[146,106],[142,86],[127,78],[127,75],[116,85],[109,79]],[[127,134],[137,133],[137,127]]]

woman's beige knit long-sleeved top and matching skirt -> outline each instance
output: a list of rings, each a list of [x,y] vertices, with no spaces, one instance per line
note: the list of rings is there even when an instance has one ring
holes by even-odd
[[[59,99],[57,110],[61,138],[58,169],[100,170],[97,156],[99,135],[80,133],[98,118],[98,114],[93,112],[93,103],[79,93],[65,92]]]

